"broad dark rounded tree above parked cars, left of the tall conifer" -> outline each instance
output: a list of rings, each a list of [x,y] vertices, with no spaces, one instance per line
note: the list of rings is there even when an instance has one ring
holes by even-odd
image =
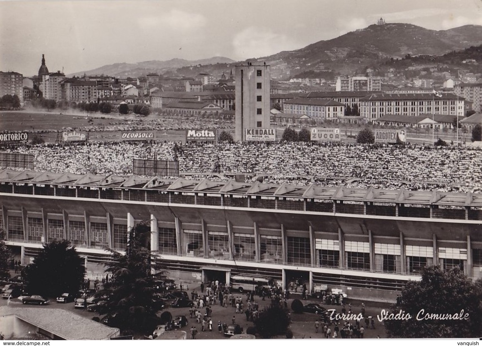
[[[47,297],[75,294],[84,280],[84,260],[68,240],[54,240],[43,246],[24,274],[28,292]]]

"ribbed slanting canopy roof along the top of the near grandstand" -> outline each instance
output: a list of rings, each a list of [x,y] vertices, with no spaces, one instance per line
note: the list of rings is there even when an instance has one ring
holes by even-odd
[[[351,188],[347,186],[301,186],[283,183],[264,184],[239,183],[235,180],[226,182],[204,179],[188,180],[183,177],[170,179],[165,177],[141,177],[130,175],[120,177],[113,174],[73,174],[33,171],[14,171],[6,168],[0,171],[1,183],[34,184],[34,185],[69,185],[94,188],[137,188],[178,193],[213,193],[228,195],[262,196],[264,198],[297,198],[314,200],[339,200],[352,202],[375,202],[392,204],[424,204],[447,205],[459,207],[482,207],[482,194],[411,191],[369,188]]]

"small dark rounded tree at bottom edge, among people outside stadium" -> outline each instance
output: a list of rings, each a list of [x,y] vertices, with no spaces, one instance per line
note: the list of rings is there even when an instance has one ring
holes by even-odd
[[[274,335],[285,334],[289,324],[288,310],[276,305],[261,312],[259,318],[254,321],[256,332],[265,339]]]

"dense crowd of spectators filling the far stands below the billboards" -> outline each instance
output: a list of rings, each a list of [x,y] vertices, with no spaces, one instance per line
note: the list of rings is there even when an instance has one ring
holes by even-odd
[[[35,156],[36,171],[129,175],[133,159],[178,160],[181,175],[246,173],[264,183],[482,192],[482,149],[423,145],[323,143],[87,142],[20,146],[2,151]],[[203,175],[186,176],[199,179]]]

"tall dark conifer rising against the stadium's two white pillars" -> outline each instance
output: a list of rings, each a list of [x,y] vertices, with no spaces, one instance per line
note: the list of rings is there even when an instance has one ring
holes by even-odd
[[[153,305],[157,299],[154,280],[164,278],[164,272],[158,256],[150,251],[149,221],[135,225],[128,236],[125,254],[107,249],[112,261],[105,271],[111,277],[98,294],[109,296],[108,313],[120,316],[116,327],[150,333],[159,322],[159,308]],[[151,270],[156,274],[151,275]]]

